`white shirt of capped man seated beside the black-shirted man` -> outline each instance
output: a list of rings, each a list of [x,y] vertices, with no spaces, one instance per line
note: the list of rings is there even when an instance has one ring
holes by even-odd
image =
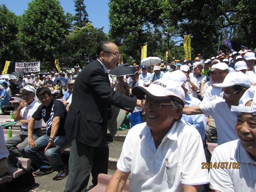
[[[36,102],[36,100],[34,100],[30,105],[28,105],[28,106],[22,108],[22,110],[20,110],[20,116],[23,119],[30,119],[39,106],[40,106],[40,103],[38,103],[38,102]],[[22,129],[28,130],[28,125],[26,125],[26,124],[22,124],[21,127],[22,127]],[[42,127],[42,119],[39,121],[35,121],[34,129],[41,128],[41,127]]]

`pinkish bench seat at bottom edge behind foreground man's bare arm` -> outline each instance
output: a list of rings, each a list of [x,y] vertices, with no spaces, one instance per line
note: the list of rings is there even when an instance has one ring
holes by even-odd
[[[111,177],[112,175],[106,175],[103,173],[99,174],[98,184],[88,192],[105,192]],[[130,180],[127,180],[122,190],[123,192],[129,192],[129,183],[130,183]]]

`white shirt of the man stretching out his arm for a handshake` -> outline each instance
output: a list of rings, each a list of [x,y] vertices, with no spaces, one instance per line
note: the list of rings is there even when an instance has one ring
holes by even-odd
[[[237,112],[232,112],[223,98],[201,103],[199,107],[206,117],[211,115],[214,118],[218,145],[238,139],[235,131]]]

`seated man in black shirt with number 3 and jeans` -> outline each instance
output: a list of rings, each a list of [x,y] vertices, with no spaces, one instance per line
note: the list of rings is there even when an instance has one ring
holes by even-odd
[[[40,171],[33,176],[42,176],[53,172],[54,169],[58,171],[56,179],[60,180],[66,177],[66,169],[58,153],[68,144],[63,128],[68,112],[61,101],[52,98],[49,88],[38,88],[36,96],[42,104],[28,122],[28,145],[25,152],[32,163],[40,168]],[[34,123],[42,118],[46,122],[46,134],[34,140],[32,136]],[[46,158],[40,154],[43,149]]]

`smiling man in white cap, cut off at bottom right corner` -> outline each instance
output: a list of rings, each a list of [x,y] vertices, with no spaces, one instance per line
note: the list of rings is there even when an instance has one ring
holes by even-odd
[[[238,113],[236,125],[237,140],[227,142],[214,149],[210,169],[210,188],[214,192],[255,191],[256,173],[256,88],[249,88],[239,100],[238,106],[231,106]]]

